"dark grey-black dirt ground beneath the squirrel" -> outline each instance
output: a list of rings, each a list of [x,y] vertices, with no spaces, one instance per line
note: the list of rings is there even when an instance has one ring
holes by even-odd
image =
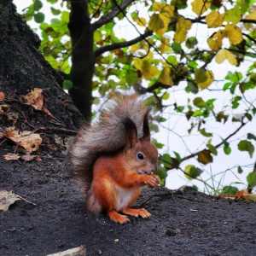
[[[87,255],[255,255],[256,204],[204,195],[189,187],[144,189],[135,207],[148,219],[115,224],[84,207],[64,167],[65,152],[41,152],[42,161],[7,161],[3,143],[0,190],[16,201],[0,212],[0,255],[47,255],[84,245]]]

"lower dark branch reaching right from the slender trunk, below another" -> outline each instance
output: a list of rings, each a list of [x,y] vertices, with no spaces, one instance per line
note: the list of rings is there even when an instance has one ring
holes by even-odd
[[[99,55],[102,55],[106,51],[113,50],[113,49],[120,49],[120,48],[124,48],[124,47],[127,47],[127,46],[131,46],[132,44],[136,44],[136,43],[142,41],[143,39],[152,36],[152,34],[153,34],[153,32],[148,30],[147,32],[144,32],[143,34],[141,34],[137,38],[134,38],[130,41],[125,41],[125,42],[120,42],[120,43],[115,43],[115,44],[102,46],[101,48],[96,49],[96,51],[94,53],[95,58],[97,58]]]

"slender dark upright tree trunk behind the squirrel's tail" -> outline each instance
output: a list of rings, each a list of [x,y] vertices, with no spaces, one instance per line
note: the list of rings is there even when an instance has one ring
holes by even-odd
[[[88,3],[85,0],[72,0],[68,24],[72,38],[72,68],[70,79],[73,87],[69,90],[73,102],[90,122],[92,104],[92,77],[95,57],[93,52],[93,31],[90,25]]]

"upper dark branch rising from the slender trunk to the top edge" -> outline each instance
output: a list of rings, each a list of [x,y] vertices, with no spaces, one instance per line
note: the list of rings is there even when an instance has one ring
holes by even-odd
[[[96,22],[94,22],[91,27],[92,27],[92,31],[96,31],[99,27],[108,24],[108,22],[112,21],[113,18],[115,18],[117,15],[119,15],[122,11],[124,11],[126,9],[126,7],[128,5],[130,5],[132,2],[134,2],[135,0],[124,0],[119,7],[114,3],[111,12],[106,15],[106,16],[102,16],[101,19],[96,20]]]

